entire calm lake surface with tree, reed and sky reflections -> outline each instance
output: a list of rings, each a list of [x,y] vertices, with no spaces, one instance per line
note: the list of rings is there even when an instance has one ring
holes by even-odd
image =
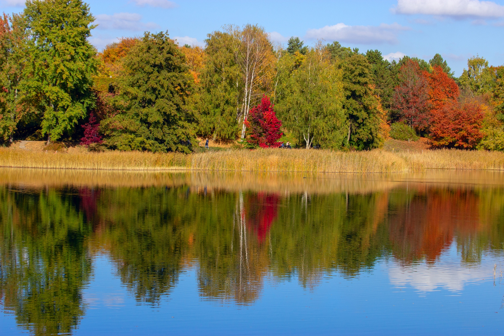
[[[0,229],[2,335],[504,333],[502,173],[0,169]]]

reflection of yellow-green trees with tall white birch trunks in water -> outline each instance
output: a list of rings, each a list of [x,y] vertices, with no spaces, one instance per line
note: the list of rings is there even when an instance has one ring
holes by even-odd
[[[269,264],[267,246],[247,227],[247,211],[257,199],[241,191],[218,195],[207,203],[196,227],[200,290],[207,297],[250,303],[260,293]]]

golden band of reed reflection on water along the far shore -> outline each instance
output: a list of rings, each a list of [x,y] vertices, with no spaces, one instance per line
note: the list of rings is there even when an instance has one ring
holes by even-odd
[[[474,188],[504,185],[500,171],[430,170],[418,173],[276,173],[276,172],[160,172],[107,171],[76,169],[0,168],[0,184],[40,188],[73,185],[76,187],[190,186],[195,191],[254,190],[288,193],[369,193],[390,190],[399,184],[424,188],[427,185]]]

